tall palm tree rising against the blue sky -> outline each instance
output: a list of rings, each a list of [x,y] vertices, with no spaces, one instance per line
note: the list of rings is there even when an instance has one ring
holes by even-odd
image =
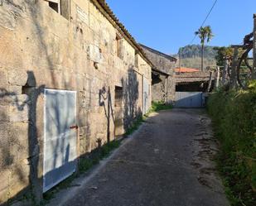
[[[204,70],[205,40],[207,42],[209,42],[214,35],[211,31],[210,26],[205,26],[205,27],[200,26],[200,29],[195,32],[195,35],[199,36],[200,45],[202,46],[202,48],[201,48],[201,71],[203,71]]]

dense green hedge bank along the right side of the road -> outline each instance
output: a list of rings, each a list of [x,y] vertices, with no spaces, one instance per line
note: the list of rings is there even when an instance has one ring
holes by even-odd
[[[211,94],[208,111],[220,139],[218,165],[231,205],[256,205],[256,83]]]

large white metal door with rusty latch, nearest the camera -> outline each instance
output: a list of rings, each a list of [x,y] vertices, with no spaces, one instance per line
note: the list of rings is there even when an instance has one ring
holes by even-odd
[[[45,89],[43,192],[76,170],[76,92]]]

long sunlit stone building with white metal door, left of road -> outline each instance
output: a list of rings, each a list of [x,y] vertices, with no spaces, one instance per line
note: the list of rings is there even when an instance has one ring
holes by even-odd
[[[153,65],[103,0],[2,0],[0,34],[0,204],[38,202],[147,113]]]

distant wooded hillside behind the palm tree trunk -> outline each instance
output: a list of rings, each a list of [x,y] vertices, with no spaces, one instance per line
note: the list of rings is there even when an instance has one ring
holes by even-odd
[[[215,67],[216,60],[215,55],[217,55],[215,46],[205,46],[205,68]],[[179,49],[179,54],[181,55],[181,66],[200,69],[200,45],[189,45],[184,46]],[[174,55],[176,58],[179,55]]]

